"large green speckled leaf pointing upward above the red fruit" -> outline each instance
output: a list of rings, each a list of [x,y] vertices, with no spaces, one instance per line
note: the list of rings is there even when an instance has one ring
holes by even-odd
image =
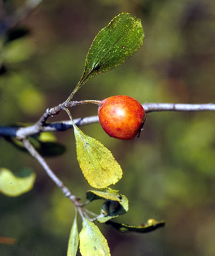
[[[92,42],[85,60],[85,70],[71,97],[88,79],[125,62],[143,42],[144,30],[140,19],[125,12],[113,18]]]

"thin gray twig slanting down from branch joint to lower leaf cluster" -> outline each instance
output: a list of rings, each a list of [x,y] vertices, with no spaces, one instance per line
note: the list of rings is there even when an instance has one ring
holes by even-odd
[[[47,175],[49,175],[50,179],[52,179],[52,181],[54,181],[54,183],[62,190],[64,195],[67,198],[69,198],[69,200],[71,200],[75,204],[75,206],[79,207],[80,206],[79,202],[78,202],[79,198],[74,196],[71,193],[71,191],[69,190],[69,188],[66,187],[64,185],[64,183],[62,181],[60,181],[60,179],[58,179],[58,177],[56,177],[56,175],[50,169],[50,167],[47,164],[47,162],[42,158],[42,156],[37,152],[37,150],[35,150],[35,148],[31,145],[29,140],[28,139],[24,139],[24,140],[22,140],[22,142],[23,142],[25,148],[31,154],[31,156],[33,156],[33,158],[35,158],[37,161],[39,161],[39,163],[42,165],[43,169],[45,169],[45,171],[47,172]]]

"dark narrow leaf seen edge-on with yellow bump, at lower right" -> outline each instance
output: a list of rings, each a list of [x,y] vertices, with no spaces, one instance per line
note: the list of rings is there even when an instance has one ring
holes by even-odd
[[[117,230],[125,233],[125,232],[137,232],[137,233],[147,233],[151,232],[153,230],[156,230],[157,228],[161,228],[165,226],[165,221],[155,221],[154,219],[149,219],[147,221],[147,224],[144,226],[130,226],[128,224],[123,223],[115,223],[113,221],[107,221],[106,224],[110,224]]]

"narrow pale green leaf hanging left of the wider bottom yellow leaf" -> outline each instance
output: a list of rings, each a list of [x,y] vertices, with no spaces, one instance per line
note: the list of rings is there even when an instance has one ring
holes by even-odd
[[[69,235],[68,253],[67,256],[75,256],[77,254],[77,247],[79,245],[79,232],[77,230],[77,214],[73,221],[71,232]]]

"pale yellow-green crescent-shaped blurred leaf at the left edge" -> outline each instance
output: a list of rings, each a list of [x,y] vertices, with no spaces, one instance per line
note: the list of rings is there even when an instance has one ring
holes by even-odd
[[[28,177],[16,177],[9,169],[0,169],[0,192],[6,196],[20,196],[31,190],[36,175],[31,173]]]

